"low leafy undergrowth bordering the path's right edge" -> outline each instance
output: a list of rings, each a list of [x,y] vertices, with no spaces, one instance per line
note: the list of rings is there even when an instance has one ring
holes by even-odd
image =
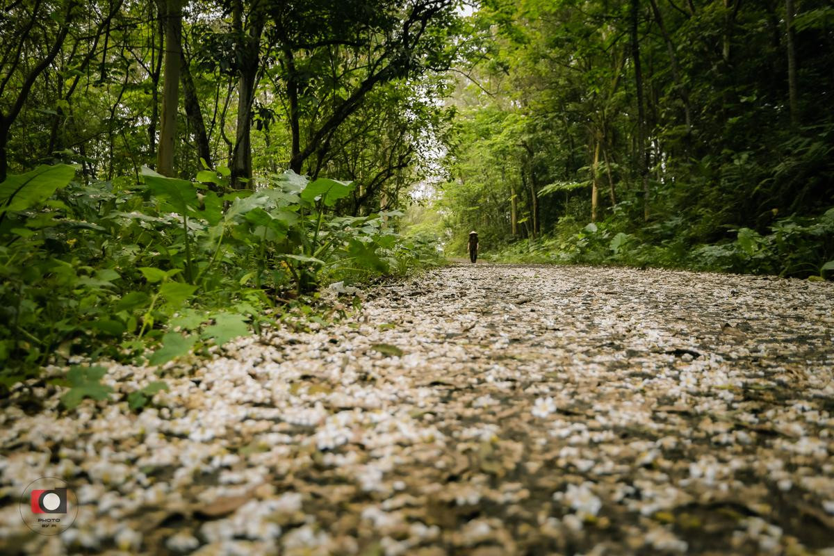
[[[687,238],[690,228],[683,218],[670,218],[637,233],[627,229],[615,218],[586,225],[562,218],[549,235],[510,243],[482,253],[482,258],[834,278],[834,208],[818,217],[781,218],[764,235],[736,228],[731,230],[734,238],[721,243],[694,243]]]

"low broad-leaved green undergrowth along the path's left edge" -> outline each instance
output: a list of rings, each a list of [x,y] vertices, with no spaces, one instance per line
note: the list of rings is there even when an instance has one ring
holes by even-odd
[[[398,212],[338,216],[352,183],[287,172],[241,191],[228,168],[197,182],[148,168],[141,183],[75,178],[59,164],[0,183],[0,389],[81,356],[161,365],[287,308],[321,319],[322,283],[440,262],[430,238],[394,232]],[[67,407],[98,399],[91,372],[70,371]]]

